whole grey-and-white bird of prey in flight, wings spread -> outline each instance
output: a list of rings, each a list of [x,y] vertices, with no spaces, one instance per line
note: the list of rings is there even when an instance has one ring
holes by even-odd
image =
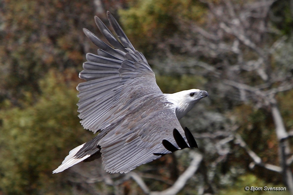
[[[72,149],[53,173],[100,157],[107,172],[127,173],[164,154],[197,148],[191,132],[178,120],[208,93],[190,89],[163,94],[146,58],[134,49],[109,11],[107,17],[120,41],[95,16],[96,25],[113,47],[83,29],[100,49],[97,54],[86,54],[87,62],[79,73],[86,82],[76,87],[81,125],[98,135]]]

